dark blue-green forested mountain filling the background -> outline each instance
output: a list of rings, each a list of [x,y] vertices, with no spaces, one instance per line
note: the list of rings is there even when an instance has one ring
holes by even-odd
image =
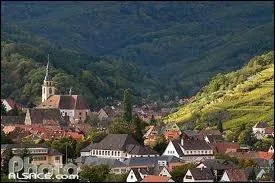
[[[67,74],[93,56],[135,62],[157,95],[191,96],[215,74],[273,49],[273,2],[2,2],[1,10],[1,22],[56,45],[53,64]]]

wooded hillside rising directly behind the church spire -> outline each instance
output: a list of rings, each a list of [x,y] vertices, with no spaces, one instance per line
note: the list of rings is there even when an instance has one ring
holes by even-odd
[[[156,82],[134,63],[59,48],[11,24],[4,24],[1,33],[1,98],[39,104],[48,53],[59,93],[68,94],[72,87],[93,108],[105,105],[107,97],[122,99],[125,88],[133,89],[137,99],[155,93]]]

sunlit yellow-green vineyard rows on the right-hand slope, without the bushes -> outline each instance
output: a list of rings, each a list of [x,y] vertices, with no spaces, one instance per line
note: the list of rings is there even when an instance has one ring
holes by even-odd
[[[273,54],[269,53],[259,57],[259,59],[263,59],[266,56],[270,57],[269,59],[274,58]],[[234,75],[235,73],[236,72],[231,72],[226,75]],[[244,92],[243,89],[249,86],[256,86],[256,88]],[[197,99],[194,102],[170,114],[165,119],[165,122],[176,121],[184,123],[192,120],[192,113],[212,115],[217,109],[226,109],[231,117],[223,122],[225,129],[238,127],[242,123],[255,124],[260,120],[274,124],[273,87],[274,64],[269,64],[261,71],[251,73],[244,82],[230,90],[216,91],[210,95],[204,95],[203,92],[198,93],[196,95]],[[217,97],[219,94],[221,97]]]

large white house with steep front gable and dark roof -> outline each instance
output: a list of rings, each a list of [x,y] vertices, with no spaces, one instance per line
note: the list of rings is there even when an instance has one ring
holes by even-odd
[[[204,141],[193,140],[172,140],[168,143],[163,155],[176,156],[186,162],[199,162],[201,159],[214,159],[213,150]]]

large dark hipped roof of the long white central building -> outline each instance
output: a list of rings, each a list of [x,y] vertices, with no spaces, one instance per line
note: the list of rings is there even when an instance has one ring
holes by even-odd
[[[140,145],[129,134],[108,134],[102,141],[90,144],[82,149],[81,152],[91,151],[92,149],[121,150],[135,155],[158,154],[157,152]]]

